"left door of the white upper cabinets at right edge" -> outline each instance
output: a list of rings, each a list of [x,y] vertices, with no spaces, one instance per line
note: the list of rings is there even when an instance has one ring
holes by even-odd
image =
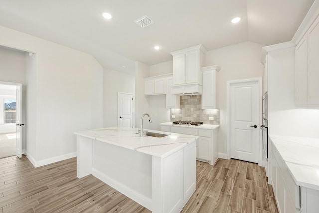
[[[295,102],[307,104],[307,35],[296,46],[295,63]]]

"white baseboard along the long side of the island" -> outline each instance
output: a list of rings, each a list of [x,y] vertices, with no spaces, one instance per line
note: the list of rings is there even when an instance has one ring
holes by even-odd
[[[142,206],[146,207],[149,210],[152,210],[152,199],[141,195],[140,193],[134,192],[133,190],[127,188],[123,184],[117,182],[116,180],[110,178],[109,176],[101,173],[96,169],[92,169],[92,175],[96,178],[100,179],[107,185],[110,185],[120,193],[126,195],[127,197],[131,198],[132,200],[136,201],[137,203],[141,204]]]

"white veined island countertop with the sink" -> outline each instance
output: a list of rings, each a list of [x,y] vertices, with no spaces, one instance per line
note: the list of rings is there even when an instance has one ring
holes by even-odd
[[[167,136],[162,138],[152,136],[141,137],[140,134],[137,134],[138,128],[129,127],[92,129],[75,132],[74,134],[161,158],[184,148],[187,144],[195,143],[195,139],[198,138],[198,136],[194,135],[157,130],[145,129],[145,131],[166,134]]]

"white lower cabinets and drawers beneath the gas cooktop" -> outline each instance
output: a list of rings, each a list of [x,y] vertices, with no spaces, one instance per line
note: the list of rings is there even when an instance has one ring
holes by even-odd
[[[216,162],[218,158],[218,129],[210,130],[161,125],[161,131],[199,136],[199,139],[196,141],[197,160],[208,162],[211,165]]]

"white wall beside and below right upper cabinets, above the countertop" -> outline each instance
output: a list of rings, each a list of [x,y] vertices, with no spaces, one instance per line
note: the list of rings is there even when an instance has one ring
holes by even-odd
[[[319,137],[319,109],[296,108],[295,48],[268,53],[268,133]]]

